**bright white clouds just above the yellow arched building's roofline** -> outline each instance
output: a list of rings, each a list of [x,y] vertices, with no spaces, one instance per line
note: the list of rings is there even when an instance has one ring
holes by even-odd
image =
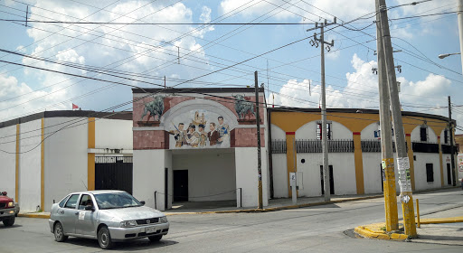
[[[377,68],[376,61],[363,61],[354,54],[352,61],[353,72],[345,74],[344,88],[335,89],[326,87],[327,108],[379,108],[378,77],[373,74],[372,68]],[[398,77],[401,82],[401,103],[405,110],[427,112],[447,117],[445,109],[435,110],[436,107],[445,107],[448,94],[461,96],[461,91],[455,91],[452,82],[444,76],[429,74],[425,80],[409,81]],[[459,90],[459,89],[458,89]],[[320,85],[311,85],[309,95],[308,80],[288,80],[277,94],[274,94],[275,105],[298,108],[317,108],[320,98]],[[269,103],[273,101],[270,96]],[[418,108],[416,106],[419,106]],[[463,115],[455,115],[458,121],[463,122]]]

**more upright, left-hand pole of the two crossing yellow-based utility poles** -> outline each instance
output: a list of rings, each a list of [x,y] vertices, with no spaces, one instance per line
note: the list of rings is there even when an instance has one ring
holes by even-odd
[[[376,13],[380,6],[376,1]],[[392,124],[389,90],[384,61],[383,33],[380,16],[376,15],[376,47],[378,51],[378,86],[380,94],[381,155],[383,158],[384,210],[386,214],[386,231],[399,230],[397,214],[397,196],[395,192],[394,154],[392,150]]]

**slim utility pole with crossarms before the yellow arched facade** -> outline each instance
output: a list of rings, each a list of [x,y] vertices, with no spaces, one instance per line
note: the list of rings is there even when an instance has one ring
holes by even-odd
[[[327,23],[326,20],[324,23],[315,23],[315,28],[312,28],[312,29],[308,29],[308,31],[311,31],[311,30],[314,30],[314,29],[318,29],[320,28],[320,38],[317,39],[317,33],[314,33],[314,39],[313,41],[311,41],[311,45],[315,45],[317,44],[318,46],[318,42],[321,43],[321,47],[320,47],[320,53],[321,53],[321,78],[322,78],[322,135],[321,135],[321,139],[322,139],[322,151],[323,151],[323,186],[324,186],[324,192],[325,192],[325,201],[330,201],[331,197],[330,197],[330,183],[329,183],[329,178],[330,178],[330,174],[329,174],[329,169],[328,169],[328,135],[326,133],[326,88],[325,88],[325,44],[327,44],[326,46],[326,50],[329,52],[330,50],[330,47],[334,46],[335,45],[335,42],[332,40],[331,43],[330,42],[325,42],[325,27],[328,26],[328,25],[331,25],[331,24],[335,24],[336,23],[336,17],[335,17],[335,20],[333,23]]]

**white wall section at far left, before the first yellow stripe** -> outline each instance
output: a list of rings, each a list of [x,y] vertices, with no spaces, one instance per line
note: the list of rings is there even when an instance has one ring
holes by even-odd
[[[0,128],[0,191],[8,192],[8,197],[15,196],[16,178],[16,126]]]

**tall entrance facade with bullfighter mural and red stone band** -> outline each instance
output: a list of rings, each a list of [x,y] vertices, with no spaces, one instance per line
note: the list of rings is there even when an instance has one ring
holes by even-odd
[[[260,104],[264,102],[259,90]],[[258,203],[255,89],[133,89],[134,194],[158,210],[173,201]],[[263,202],[269,199],[260,107]]]

